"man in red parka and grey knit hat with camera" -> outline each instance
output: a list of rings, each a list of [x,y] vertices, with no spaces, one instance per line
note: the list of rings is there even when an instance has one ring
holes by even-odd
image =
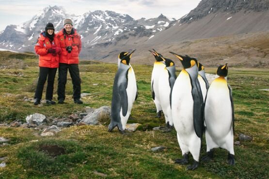
[[[60,55],[59,77],[58,77],[58,103],[63,104],[65,99],[65,84],[67,70],[72,78],[74,103],[83,104],[80,100],[81,80],[79,76],[79,53],[81,50],[80,35],[73,28],[71,19],[63,21],[63,30],[56,34],[62,53]]]

